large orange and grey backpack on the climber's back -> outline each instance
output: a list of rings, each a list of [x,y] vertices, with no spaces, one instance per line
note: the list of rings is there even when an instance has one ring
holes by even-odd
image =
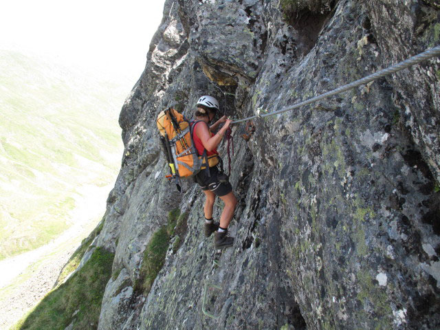
[[[157,115],[160,140],[166,151],[168,165],[173,177],[192,177],[201,169],[218,164],[218,157],[198,155],[192,140],[192,126],[184,115],[175,109],[166,109]]]

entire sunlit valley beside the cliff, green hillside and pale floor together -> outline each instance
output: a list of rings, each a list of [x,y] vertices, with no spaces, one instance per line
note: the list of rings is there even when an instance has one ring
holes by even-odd
[[[0,329],[10,329],[104,215],[132,83],[15,50],[0,49],[0,71]]]

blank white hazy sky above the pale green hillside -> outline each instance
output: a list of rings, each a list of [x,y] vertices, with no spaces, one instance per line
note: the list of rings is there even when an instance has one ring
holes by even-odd
[[[14,0],[0,6],[0,48],[138,78],[164,0]]]

